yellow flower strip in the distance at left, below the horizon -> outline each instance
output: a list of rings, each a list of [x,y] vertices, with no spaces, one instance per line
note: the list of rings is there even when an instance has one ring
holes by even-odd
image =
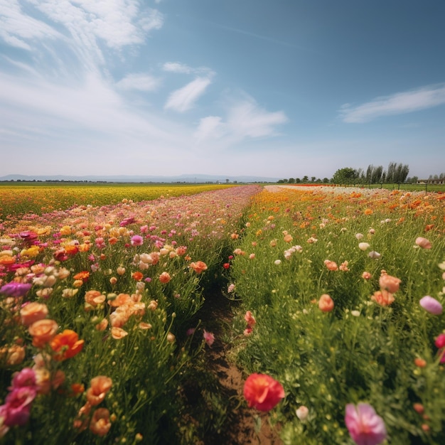
[[[65,210],[74,205],[109,205],[123,199],[141,201],[161,196],[193,195],[232,187],[229,184],[146,183],[0,183],[0,221],[8,216]]]

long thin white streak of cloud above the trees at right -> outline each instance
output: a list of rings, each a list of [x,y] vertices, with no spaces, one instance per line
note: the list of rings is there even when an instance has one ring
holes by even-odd
[[[445,85],[433,85],[394,95],[377,97],[365,104],[352,107],[344,104],[340,109],[343,122],[369,122],[381,116],[416,112],[445,104]]]

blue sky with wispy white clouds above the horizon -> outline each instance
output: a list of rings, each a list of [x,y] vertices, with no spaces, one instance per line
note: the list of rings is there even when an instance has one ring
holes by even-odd
[[[443,0],[0,0],[0,176],[445,172]]]

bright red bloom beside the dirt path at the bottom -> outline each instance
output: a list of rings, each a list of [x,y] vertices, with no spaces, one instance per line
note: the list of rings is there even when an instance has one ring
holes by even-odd
[[[245,381],[244,397],[249,407],[259,411],[269,411],[284,396],[282,384],[267,374],[251,374]]]

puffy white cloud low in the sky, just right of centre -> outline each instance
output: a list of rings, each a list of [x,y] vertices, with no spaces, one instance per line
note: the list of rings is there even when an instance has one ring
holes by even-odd
[[[200,119],[195,137],[198,141],[227,139],[236,142],[246,138],[274,136],[277,134],[275,128],[287,121],[284,112],[268,112],[252,98],[247,98],[230,107],[225,122],[218,116]]]

